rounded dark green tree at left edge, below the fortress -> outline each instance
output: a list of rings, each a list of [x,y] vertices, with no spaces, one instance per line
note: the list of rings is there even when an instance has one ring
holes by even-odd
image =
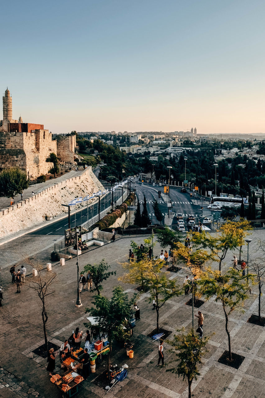
[[[14,197],[29,186],[27,175],[19,168],[10,168],[0,173],[0,195]]]

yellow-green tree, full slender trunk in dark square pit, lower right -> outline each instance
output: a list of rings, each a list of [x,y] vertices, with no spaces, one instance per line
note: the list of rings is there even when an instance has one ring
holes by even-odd
[[[226,333],[228,336],[229,359],[232,361],[231,339],[228,330],[228,318],[234,310],[241,310],[244,301],[248,298],[249,280],[254,283],[254,275],[242,276],[240,271],[229,268],[223,275],[220,271],[214,271],[210,267],[203,272],[197,284],[200,286],[200,295],[206,300],[214,297],[214,301],[222,303],[226,320]]]

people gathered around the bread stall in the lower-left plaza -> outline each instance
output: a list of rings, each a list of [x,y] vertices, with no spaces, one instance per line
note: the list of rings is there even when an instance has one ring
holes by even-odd
[[[75,351],[76,349],[80,348],[81,342],[83,338],[83,331],[79,331],[79,328],[76,328],[75,331],[73,331],[72,335],[70,336],[69,339],[64,340],[64,343],[60,346],[60,350],[55,353],[54,348],[49,349],[48,356],[47,356],[47,371],[49,372],[49,375],[52,376],[55,371],[55,358],[59,354],[60,358],[60,363],[61,367],[64,368],[64,361],[65,359],[69,358],[71,356],[72,351]],[[85,336],[85,344],[87,341],[91,343],[91,335],[89,330],[86,331],[86,336]],[[88,353],[88,348],[84,348],[84,355],[81,360],[82,362],[82,376],[86,380],[86,378],[90,374],[90,355]]]

